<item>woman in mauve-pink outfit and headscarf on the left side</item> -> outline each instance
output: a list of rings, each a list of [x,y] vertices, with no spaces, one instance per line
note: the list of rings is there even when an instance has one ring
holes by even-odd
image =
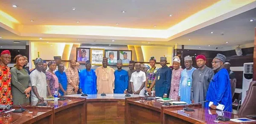
[[[49,61],[48,67],[49,67],[49,70],[45,73],[46,81],[47,81],[47,85],[48,85],[47,90],[48,90],[48,95],[52,96],[52,95],[54,95],[55,91],[58,91],[58,88],[59,88],[58,77],[53,72],[56,69],[56,62]]]

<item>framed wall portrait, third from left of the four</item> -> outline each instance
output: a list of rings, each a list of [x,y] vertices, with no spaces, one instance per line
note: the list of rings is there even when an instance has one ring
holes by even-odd
[[[118,58],[118,50],[105,50],[105,57],[108,58],[109,66],[116,66]]]

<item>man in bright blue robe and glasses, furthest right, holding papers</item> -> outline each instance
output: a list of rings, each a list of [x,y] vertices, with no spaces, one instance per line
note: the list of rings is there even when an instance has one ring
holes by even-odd
[[[224,105],[224,110],[232,112],[232,94],[230,79],[227,69],[223,68],[223,64],[226,60],[226,56],[222,54],[217,54],[217,56],[212,60],[212,69],[217,72],[212,81],[209,84],[209,88],[206,95],[205,107],[209,108],[209,102],[212,101],[213,104],[210,106],[212,109],[216,109],[218,104]]]

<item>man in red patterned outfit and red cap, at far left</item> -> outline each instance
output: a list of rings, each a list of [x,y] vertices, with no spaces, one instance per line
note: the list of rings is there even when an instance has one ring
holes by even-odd
[[[12,104],[11,72],[7,66],[11,62],[11,53],[4,50],[0,55],[0,104]],[[3,87],[7,87],[3,90]],[[7,95],[10,92],[10,95]],[[5,96],[5,97],[4,97]]]

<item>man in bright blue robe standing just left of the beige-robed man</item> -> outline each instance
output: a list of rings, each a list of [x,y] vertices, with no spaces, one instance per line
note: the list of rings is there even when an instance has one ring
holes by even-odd
[[[93,69],[91,69],[91,63],[89,60],[85,62],[86,69],[83,69],[79,73],[80,83],[79,83],[79,92],[84,94],[96,94],[97,86],[96,81],[97,77]]]

